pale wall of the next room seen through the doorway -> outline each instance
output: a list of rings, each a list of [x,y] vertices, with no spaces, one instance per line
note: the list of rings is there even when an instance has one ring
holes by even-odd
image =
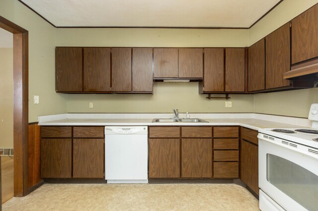
[[[0,148],[13,148],[12,48],[0,48]]]

